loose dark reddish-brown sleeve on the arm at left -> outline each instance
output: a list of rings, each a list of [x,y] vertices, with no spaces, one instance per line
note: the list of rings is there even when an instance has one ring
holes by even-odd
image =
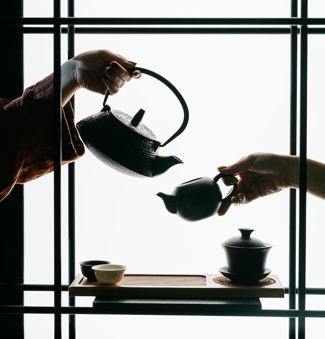
[[[53,171],[53,114],[53,75],[0,107],[0,201],[16,183]],[[84,145],[68,102],[62,108],[62,164],[83,154]]]

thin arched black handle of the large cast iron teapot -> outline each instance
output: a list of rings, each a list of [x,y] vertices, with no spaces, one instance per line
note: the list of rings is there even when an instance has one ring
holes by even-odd
[[[129,73],[133,73],[134,71],[140,71],[141,73],[148,74],[148,75],[150,75],[150,76],[160,80],[161,82],[163,82],[167,87],[169,87],[173,91],[173,93],[175,94],[177,99],[180,101],[180,103],[181,103],[181,105],[183,107],[183,110],[184,110],[184,119],[183,119],[181,127],[167,141],[165,141],[163,144],[160,145],[160,147],[166,146],[173,139],[178,137],[185,130],[185,128],[187,126],[187,122],[188,122],[188,108],[187,108],[187,105],[186,105],[186,102],[185,102],[184,98],[182,97],[182,95],[179,93],[177,88],[171,82],[169,82],[167,79],[165,79],[164,77],[162,77],[161,75],[159,75],[159,74],[157,74],[155,72],[152,72],[150,70],[147,70],[147,69],[141,68],[141,67],[128,68],[127,71]],[[107,100],[109,95],[110,95],[110,91],[107,88],[106,89],[106,93],[105,93],[105,98],[104,98],[103,106],[105,106],[106,100]]]

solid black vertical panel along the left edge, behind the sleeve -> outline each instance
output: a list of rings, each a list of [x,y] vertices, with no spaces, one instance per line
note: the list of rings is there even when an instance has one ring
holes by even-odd
[[[21,17],[22,0],[11,0],[2,4],[0,16]],[[0,38],[2,45],[0,97],[15,99],[23,91],[23,38],[19,27],[15,26],[3,27]],[[22,284],[23,187],[21,185],[17,185],[12,193],[0,202],[0,227],[0,258],[6,266],[6,269],[0,272],[0,283]],[[23,292],[0,289],[0,304],[22,305]],[[0,337],[23,338],[23,336],[23,315],[0,315]]]

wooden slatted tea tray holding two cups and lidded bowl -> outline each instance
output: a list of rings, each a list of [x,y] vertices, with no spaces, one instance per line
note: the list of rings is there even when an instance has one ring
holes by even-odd
[[[277,275],[266,279],[270,285],[221,285],[221,274],[125,274],[116,285],[87,281],[81,273],[69,287],[69,296],[123,298],[283,298],[284,288]],[[226,279],[226,278],[225,278]],[[262,282],[262,281],[261,281]]]

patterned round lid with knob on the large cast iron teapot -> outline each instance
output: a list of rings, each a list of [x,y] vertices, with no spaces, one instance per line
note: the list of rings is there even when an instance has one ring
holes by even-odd
[[[124,112],[118,111],[117,109],[110,109],[110,111],[117,120],[122,122],[123,125],[148,139],[157,140],[155,134],[141,122],[145,112],[143,109],[140,109],[133,117]]]

